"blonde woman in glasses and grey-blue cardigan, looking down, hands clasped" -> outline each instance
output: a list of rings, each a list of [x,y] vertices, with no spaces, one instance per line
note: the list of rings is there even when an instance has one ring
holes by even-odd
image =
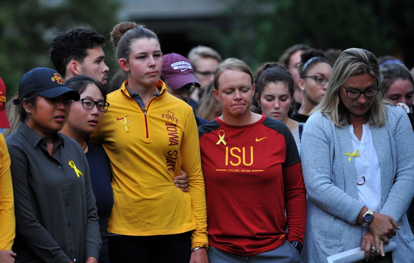
[[[304,262],[327,262],[358,246],[367,260],[380,252],[388,262],[413,261],[406,211],[414,195],[414,134],[407,114],[382,100],[381,79],[371,52],[345,50],[306,122]],[[383,250],[390,241],[398,242],[392,255]]]

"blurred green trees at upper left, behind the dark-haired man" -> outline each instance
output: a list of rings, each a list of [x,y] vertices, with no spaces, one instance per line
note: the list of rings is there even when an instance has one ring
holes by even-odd
[[[49,43],[61,31],[86,28],[98,31],[109,41],[116,24],[113,0],[2,0],[0,3],[0,76],[10,98],[20,78],[34,67],[51,67]],[[113,50],[103,47],[110,67]]]

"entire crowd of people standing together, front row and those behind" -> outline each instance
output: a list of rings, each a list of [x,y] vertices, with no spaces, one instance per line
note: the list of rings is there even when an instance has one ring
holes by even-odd
[[[402,61],[296,44],[252,72],[134,22],[110,36],[111,79],[87,29],[8,102],[0,79],[0,262],[413,262]]]

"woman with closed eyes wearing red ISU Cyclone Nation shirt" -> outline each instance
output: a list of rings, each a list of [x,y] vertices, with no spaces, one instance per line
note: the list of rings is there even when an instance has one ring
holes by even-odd
[[[223,115],[198,127],[209,261],[300,262],[306,191],[289,128],[250,111],[255,84],[241,60],[221,62],[213,92]]]

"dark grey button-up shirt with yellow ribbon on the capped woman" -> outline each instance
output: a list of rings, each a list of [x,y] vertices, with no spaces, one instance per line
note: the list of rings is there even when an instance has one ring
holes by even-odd
[[[16,262],[99,258],[101,235],[87,159],[76,141],[60,133],[52,137],[53,156],[46,140],[23,122],[6,138],[12,161]]]

